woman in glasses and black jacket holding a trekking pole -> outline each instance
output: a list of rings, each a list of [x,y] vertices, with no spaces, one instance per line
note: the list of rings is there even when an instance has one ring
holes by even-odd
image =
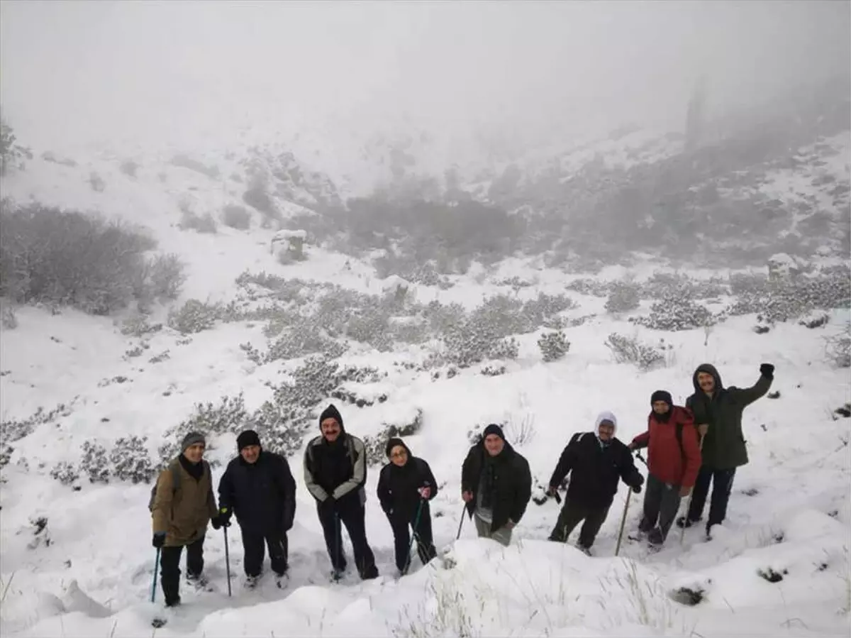
[[[417,555],[423,565],[437,555],[431,537],[429,504],[437,496],[437,483],[428,463],[414,457],[401,439],[387,441],[386,454],[390,459],[381,468],[378,498],[393,528],[396,566],[400,575],[408,571],[411,536],[414,528]]]

